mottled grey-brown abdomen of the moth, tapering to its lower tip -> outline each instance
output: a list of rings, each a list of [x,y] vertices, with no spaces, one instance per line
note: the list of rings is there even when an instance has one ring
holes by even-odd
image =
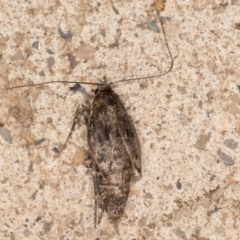
[[[111,219],[117,220],[123,214],[130,191],[132,164],[121,136],[115,138],[115,144],[112,146],[105,161],[98,161],[98,180],[105,210]]]

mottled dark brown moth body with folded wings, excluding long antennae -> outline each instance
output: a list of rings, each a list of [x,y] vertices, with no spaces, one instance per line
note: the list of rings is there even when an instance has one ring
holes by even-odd
[[[141,150],[136,130],[119,96],[110,85],[100,85],[85,117],[92,158],[95,192],[95,226],[101,220],[97,208],[112,220],[122,215],[130,192],[133,168],[141,174]]]

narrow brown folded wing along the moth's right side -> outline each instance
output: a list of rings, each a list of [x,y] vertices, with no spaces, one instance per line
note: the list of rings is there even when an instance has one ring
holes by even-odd
[[[123,138],[132,165],[141,174],[141,148],[138,135],[121,99],[118,96],[117,99],[118,104],[116,105],[116,115],[118,131]]]

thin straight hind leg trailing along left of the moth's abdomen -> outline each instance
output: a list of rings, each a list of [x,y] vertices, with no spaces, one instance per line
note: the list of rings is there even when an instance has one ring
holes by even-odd
[[[100,172],[97,171],[97,165],[92,162],[92,175],[93,175],[93,187],[94,187],[94,227],[101,222],[102,215],[104,212],[104,204],[100,195],[99,180],[101,178]],[[101,210],[100,212],[98,210]]]

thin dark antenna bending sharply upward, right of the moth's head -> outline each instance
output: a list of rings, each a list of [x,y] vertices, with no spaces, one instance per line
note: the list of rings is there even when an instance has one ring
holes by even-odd
[[[177,58],[172,56],[172,53],[170,51],[170,48],[169,48],[169,45],[168,45],[168,42],[167,42],[167,38],[166,38],[166,34],[165,34],[165,31],[164,31],[164,28],[163,28],[163,23],[161,21],[161,18],[160,18],[160,13],[158,12],[157,10],[157,16],[158,16],[158,20],[160,22],[160,25],[161,25],[161,29],[162,29],[162,32],[163,32],[163,37],[164,37],[164,41],[166,43],[166,47],[167,47],[167,50],[168,50],[168,54],[170,56],[170,59],[171,59],[171,64],[170,64],[170,67],[169,69],[164,72],[164,73],[161,73],[161,74],[158,74],[158,75],[153,75],[153,76],[149,76],[149,77],[137,77],[137,78],[129,78],[129,79],[122,79],[122,80],[118,80],[116,82],[110,82],[109,85],[113,85],[113,84],[116,84],[116,83],[120,83],[120,82],[129,82],[129,81],[136,81],[136,80],[144,80],[144,79],[151,79],[151,78],[157,78],[157,77],[160,77],[160,76],[163,76],[163,75],[166,75],[168,74],[169,72],[171,72],[172,68],[173,68],[173,62],[174,60]]]

